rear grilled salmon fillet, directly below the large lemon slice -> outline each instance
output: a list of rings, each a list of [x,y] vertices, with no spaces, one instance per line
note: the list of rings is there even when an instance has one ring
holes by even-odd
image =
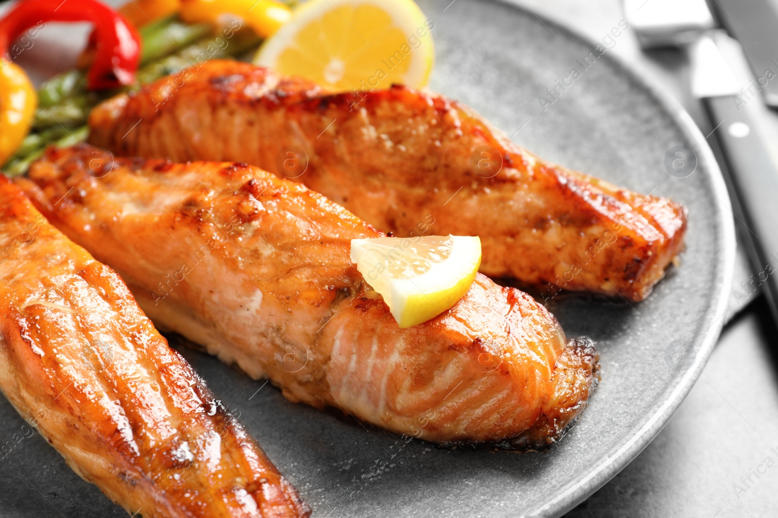
[[[328,93],[209,61],[93,110],[89,140],[143,158],[247,162],[394,235],[478,235],[489,276],[640,301],[683,246],[685,208],[544,162],[467,106],[404,86]]]

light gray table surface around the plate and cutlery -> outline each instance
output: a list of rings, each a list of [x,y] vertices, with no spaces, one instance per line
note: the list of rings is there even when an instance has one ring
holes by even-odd
[[[517,3],[595,39],[623,18],[619,0]],[[643,53],[629,31],[614,50],[681,101],[703,134],[710,132],[689,93],[682,52]],[[778,144],[778,115],[756,103],[752,109],[762,137]],[[778,516],[778,330],[764,298],[741,287],[751,270],[738,256],[731,320],[689,397],[635,461],[566,518]]]

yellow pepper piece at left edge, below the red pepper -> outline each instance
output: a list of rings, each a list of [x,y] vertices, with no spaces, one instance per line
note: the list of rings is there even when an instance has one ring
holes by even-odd
[[[0,61],[0,165],[22,144],[30,131],[38,96],[18,65]]]

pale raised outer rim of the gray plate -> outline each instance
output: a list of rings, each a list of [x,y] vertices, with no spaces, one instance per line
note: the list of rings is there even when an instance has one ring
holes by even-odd
[[[527,7],[522,0],[478,0],[479,2],[492,2],[499,5],[506,5],[512,9],[517,9],[524,14],[534,16],[541,23],[553,27],[556,30],[566,33],[567,37],[573,40],[579,40],[581,43],[594,48],[598,45],[596,40],[577,30],[575,27],[568,26],[566,23],[552,19],[544,12],[535,12]],[[573,507],[584,502],[594,494],[599,488],[619,474],[619,471],[626,468],[643,451],[654,438],[661,432],[665,425],[678,410],[678,407],[684,402],[689,391],[699,379],[710,358],[713,349],[718,342],[718,338],[724,328],[729,303],[729,292],[731,291],[732,280],[734,279],[734,265],[737,240],[735,238],[734,218],[727,217],[725,209],[731,213],[732,206],[724,181],[724,174],[713,155],[710,145],[703,137],[703,133],[689,115],[689,112],[681,105],[670,92],[657,80],[650,77],[647,72],[640,70],[627,61],[626,57],[620,54],[608,53],[605,57],[608,63],[618,68],[626,77],[631,79],[636,85],[639,85],[650,97],[661,106],[664,112],[678,127],[681,134],[693,146],[693,151],[697,154],[698,170],[704,171],[710,181],[710,189],[714,196],[720,201],[721,205],[716,205],[715,213],[717,219],[715,237],[720,245],[717,252],[720,255],[720,261],[717,276],[713,279],[715,286],[714,293],[716,301],[710,304],[708,311],[702,319],[698,321],[700,325],[707,325],[702,336],[695,337],[696,358],[692,367],[678,378],[674,384],[670,385],[671,392],[667,398],[657,402],[646,412],[645,419],[640,419],[633,426],[626,436],[629,439],[617,444],[608,451],[608,454],[601,458],[593,469],[585,472],[583,475],[576,475],[563,485],[556,488],[548,500],[540,506],[533,506],[520,514],[521,518],[534,516],[548,516],[558,518],[567,513]]]

